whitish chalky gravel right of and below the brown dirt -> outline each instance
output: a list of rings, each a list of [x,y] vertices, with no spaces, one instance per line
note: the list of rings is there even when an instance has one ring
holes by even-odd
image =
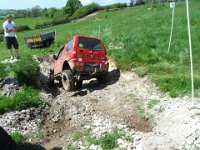
[[[147,116],[151,114],[153,128],[150,132],[140,132],[117,122],[111,116],[94,114],[92,122],[85,126],[87,129],[91,128],[92,136],[100,137],[111,132],[113,128],[118,128],[132,140],[119,138],[116,149],[200,149],[200,99],[192,99],[189,96],[171,98],[167,94],[160,93],[147,77],[138,78],[133,73],[123,73],[120,80],[123,93],[127,95],[131,93],[134,99],[143,101],[145,114]],[[117,90],[120,91],[120,87]],[[148,109],[147,105],[152,100],[159,100],[159,104]],[[114,102],[116,98],[111,98],[110,101]],[[77,145],[76,142],[74,144]],[[78,144],[78,147],[83,146],[84,143]]]

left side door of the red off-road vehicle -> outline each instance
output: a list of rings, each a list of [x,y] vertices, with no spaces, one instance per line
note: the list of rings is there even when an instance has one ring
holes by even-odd
[[[58,55],[57,55],[57,60],[54,61],[54,74],[60,74],[62,73],[62,66],[63,66],[63,52],[64,52],[64,46],[60,49]]]

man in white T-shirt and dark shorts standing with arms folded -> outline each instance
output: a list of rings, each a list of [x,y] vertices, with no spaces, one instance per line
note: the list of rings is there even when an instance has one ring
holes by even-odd
[[[15,23],[12,21],[13,17],[12,15],[8,15],[6,17],[6,21],[3,23],[3,29],[4,29],[4,36],[6,39],[6,47],[10,52],[10,59],[14,59],[14,55],[13,55],[13,49],[12,47],[14,47],[14,49],[16,50],[16,58],[19,59],[19,44],[17,42],[17,38],[16,38],[16,25]]]

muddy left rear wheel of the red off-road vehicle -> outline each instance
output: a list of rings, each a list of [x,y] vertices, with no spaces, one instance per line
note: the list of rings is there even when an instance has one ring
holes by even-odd
[[[75,90],[75,78],[71,70],[62,72],[62,85],[66,91]]]

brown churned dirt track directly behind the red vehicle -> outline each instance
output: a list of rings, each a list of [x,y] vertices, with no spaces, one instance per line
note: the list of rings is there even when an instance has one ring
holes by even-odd
[[[80,91],[66,92],[58,85],[49,87],[47,84],[51,57],[37,60],[40,63],[41,87],[53,97],[46,109],[44,129],[47,139],[42,144],[46,149],[66,144],[72,132],[89,125],[92,116],[96,114],[109,116],[110,120],[138,131],[147,132],[151,129],[150,122],[138,115],[133,100],[128,96],[134,92],[133,87],[138,86],[134,74],[120,73],[114,63],[111,63],[110,80],[107,84],[99,84],[94,79],[84,81]],[[137,100],[140,101],[140,98]]]

